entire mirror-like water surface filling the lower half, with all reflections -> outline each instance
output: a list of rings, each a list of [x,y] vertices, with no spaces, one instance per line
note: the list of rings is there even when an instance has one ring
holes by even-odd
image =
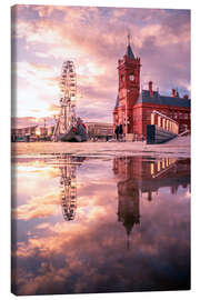
[[[14,293],[189,289],[189,159],[16,163]]]

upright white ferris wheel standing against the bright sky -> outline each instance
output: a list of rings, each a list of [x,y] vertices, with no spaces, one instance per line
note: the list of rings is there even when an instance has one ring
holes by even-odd
[[[73,61],[62,63],[60,77],[60,114],[54,127],[53,140],[76,126],[77,76]]]

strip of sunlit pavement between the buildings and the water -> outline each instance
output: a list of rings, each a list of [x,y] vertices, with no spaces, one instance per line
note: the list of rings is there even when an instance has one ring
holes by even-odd
[[[76,156],[147,156],[190,157],[190,137],[180,137],[162,144],[146,142],[18,142],[12,144],[12,156],[41,156],[68,153]]]

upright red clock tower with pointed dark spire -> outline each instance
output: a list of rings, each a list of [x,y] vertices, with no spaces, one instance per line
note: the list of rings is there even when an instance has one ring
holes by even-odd
[[[122,124],[123,133],[133,132],[133,106],[140,92],[140,58],[136,58],[128,36],[127,51],[118,61],[119,89],[118,107],[114,109],[114,126]]]

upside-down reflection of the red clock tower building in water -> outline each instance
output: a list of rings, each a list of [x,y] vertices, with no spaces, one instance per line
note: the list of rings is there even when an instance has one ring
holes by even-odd
[[[151,201],[153,192],[169,187],[174,193],[179,186],[190,184],[190,159],[123,157],[113,160],[118,179],[118,221],[126,227],[127,236],[140,223],[140,193]]]

